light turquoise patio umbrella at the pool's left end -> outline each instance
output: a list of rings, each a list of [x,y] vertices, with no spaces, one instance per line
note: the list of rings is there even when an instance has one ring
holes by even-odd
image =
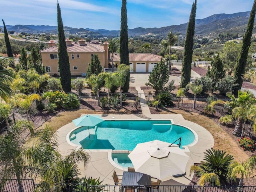
[[[100,116],[96,115],[84,115],[80,118],[72,120],[76,126],[88,126],[89,138],[90,138],[90,127],[96,126],[97,124],[104,121]]]

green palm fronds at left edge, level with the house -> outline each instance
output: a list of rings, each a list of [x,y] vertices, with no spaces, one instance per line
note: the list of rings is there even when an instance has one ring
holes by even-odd
[[[12,59],[0,56],[0,97],[6,101],[13,93],[12,82],[16,78],[16,74],[13,70],[4,69]]]

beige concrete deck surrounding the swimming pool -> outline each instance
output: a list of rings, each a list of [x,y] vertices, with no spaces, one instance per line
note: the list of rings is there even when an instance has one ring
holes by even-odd
[[[174,178],[172,176],[166,178],[161,182],[163,185],[188,185],[193,177],[193,175],[189,176],[190,166],[194,163],[200,163],[203,160],[204,152],[207,149],[210,149],[214,146],[214,138],[205,128],[202,126],[187,121],[183,118],[181,114],[128,114],[128,115],[118,115],[118,114],[95,114],[100,116],[105,120],[145,120],[145,119],[153,119],[153,120],[172,120],[173,124],[185,126],[190,128],[196,132],[196,139],[198,140],[193,146],[188,146],[185,149],[185,153],[190,157],[188,160],[188,164],[186,166],[186,175]],[[76,126],[73,122],[62,126],[60,129],[56,131],[56,136],[58,138],[58,149],[62,155],[69,154],[72,150],[75,150],[77,146],[70,145],[66,140],[66,135],[74,129]],[[126,168],[119,169],[108,160],[108,156],[112,150],[86,150],[90,155],[90,162],[84,169],[82,164],[78,164],[81,177],[92,176],[93,178],[100,178],[100,180],[104,180],[103,184],[114,185],[114,181],[112,178],[113,170],[116,171],[117,174],[122,174]]]

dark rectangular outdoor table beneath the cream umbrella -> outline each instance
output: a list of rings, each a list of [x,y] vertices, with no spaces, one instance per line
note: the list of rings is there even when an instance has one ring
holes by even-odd
[[[150,186],[151,176],[144,173],[124,171],[121,184],[134,187]]]

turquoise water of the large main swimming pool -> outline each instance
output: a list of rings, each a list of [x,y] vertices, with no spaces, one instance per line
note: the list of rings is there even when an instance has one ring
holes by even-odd
[[[81,127],[70,134],[72,143],[84,149],[132,151],[138,143],[161,140],[172,143],[182,137],[181,147],[194,142],[189,129],[172,125],[170,120],[105,120],[96,127]],[[178,142],[176,143],[178,144]]]

